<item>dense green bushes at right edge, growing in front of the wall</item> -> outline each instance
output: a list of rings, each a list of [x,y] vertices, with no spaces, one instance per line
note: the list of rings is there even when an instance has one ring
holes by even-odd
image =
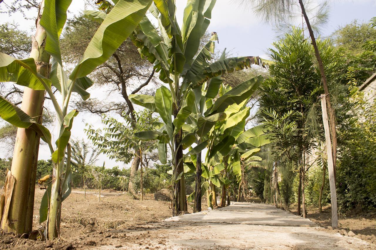
[[[376,207],[376,103],[350,86],[353,116],[338,131],[341,154],[337,169],[338,204],[344,211]]]

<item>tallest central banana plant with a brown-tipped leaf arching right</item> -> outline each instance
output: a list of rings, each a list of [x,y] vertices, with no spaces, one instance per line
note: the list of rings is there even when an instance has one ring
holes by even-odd
[[[133,103],[158,112],[163,120],[160,131],[139,133],[144,140],[159,140],[160,152],[169,145],[173,153],[175,181],[173,214],[187,210],[183,173],[182,126],[191,113],[191,88],[200,87],[205,81],[226,72],[241,70],[252,64],[262,65],[258,57],[232,57],[209,63],[214,50],[216,33],[212,33],[208,46],[199,50],[200,40],[205,34],[211,19],[215,0],[188,0],[180,29],[176,19],[174,0],[154,0],[150,6],[150,18],[156,20],[158,29],[149,16],[145,16],[130,38],[138,47],[142,57],[154,64],[159,79],[167,85],[156,91],[155,96],[130,95]],[[111,12],[110,12],[111,14]],[[98,22],[105,13],[86,11],[85,15]],[[197,56],[196,56],[197,55]],[[165,146],[162,146],[165,145]]]

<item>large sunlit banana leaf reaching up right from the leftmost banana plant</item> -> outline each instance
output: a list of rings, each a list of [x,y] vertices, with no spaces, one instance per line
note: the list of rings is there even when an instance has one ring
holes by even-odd
[[[152,0],[119,0],[94,34],[70,79],[85,77],[104,63],[133,32],[151,3]]]

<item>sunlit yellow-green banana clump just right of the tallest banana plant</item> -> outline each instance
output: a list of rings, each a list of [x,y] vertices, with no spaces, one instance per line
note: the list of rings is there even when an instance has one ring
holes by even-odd
[[[222,186],[222,196],[224,196],[226,187],[230,184],[229,176],[232,173],[235,173],[234,176],[237,177],[237,182],[241,181],[240,159],[246,160],[249,157],[252,158],[259,150],[257,146],[261,146],[262,143],[267,143],[267,140],[259,142],[258,144],[254,143],[256,145],[245,142],[256,136],[255,133],[251,133],[251,131],[257,128],[243,132],[245,120],[249,116],[249,108],[246,107],[246,103],[261,81],[261,76],[254,77],[233,89],[231,89],[230,86],[225,86],[220,83],[220,88],[218,88],[220,97],[215,100],[214,103],[212,99],[206,98],[208,92],[203,92],[201,103],[205,103],[203,110],[207,110],[203,112],[203,116],[197,119],[196,124],[199,124],[197,131],[199,131],[198,135],[200,139],[204,139],[205,142],[203,143],[208,147],[206,159],[202,165],[202,176],[206,181],[201,186],[203,191],[206,190],[208,206],[217,205],[215,186]],[[210,122],[209,117],[214,115],[224,116],[226,119],[218,119]],[[202,121],[204,120],[205,125],[202,126],[201,124],[203,124]],[[194,119],[191,121],[195,123]],[[253,140],[255,140],[255,138]],[[197,163],[194,165],[197,169],[197,165],[200,164],[199,161],[197,161],[198,157],[192,156],[194,156],[193,154],[197,151],[201,152],[201,150],[205,148],[205,146],[202,147],[203,143],[198,144],[187,153],[187,155],[191,155],[191,159],[185,159],[187,165],[194,164],[196,160]],[[197,188],[195,192],[196,200],[200,199],[201,197],[197,196]],[[189,198],[192,196],[193,194],[191,194]]]

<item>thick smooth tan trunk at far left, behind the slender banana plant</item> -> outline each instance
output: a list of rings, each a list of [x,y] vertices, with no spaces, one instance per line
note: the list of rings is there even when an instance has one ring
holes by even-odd
[[[30,57],[35,60],[36,71],[44,77],[49,77],[50,55],[44,50],[46,33],[39,25],[43,8],[44,1],[39,8]],[[44,90],[25,87],[22,99],[21,109],[29,116],[36,117],[39,123],[42,122],[44,95]],[[5,196],[5,200],[10,202],[5,203],[6,213],[3,214],[1,223],[6,233],[23,234],[32,230],[38,150],[38,134],[32,129],[18,128],[10,173],[15,183],[12,193]]]

